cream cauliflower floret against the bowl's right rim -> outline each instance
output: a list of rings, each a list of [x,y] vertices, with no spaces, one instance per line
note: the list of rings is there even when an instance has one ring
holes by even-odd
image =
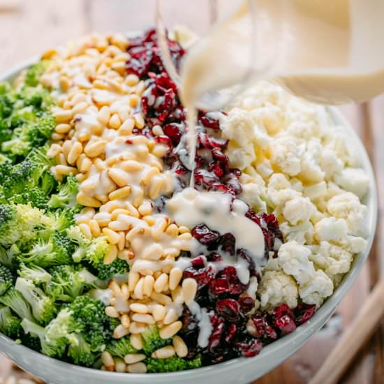
[[[367,234],[367,207],[353,193],[341,193],[330,198],[327,210],[337,219],[346,220],[349,235],[365,237]]]

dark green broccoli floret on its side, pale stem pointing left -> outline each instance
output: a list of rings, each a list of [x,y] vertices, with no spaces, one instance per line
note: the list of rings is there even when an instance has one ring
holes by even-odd
[[[71,240],[57,232],[47,242],[39,239],[29,252],[18,256],[18,260],[22,263],[34,263],[43,268],[53,267],[72,263],[73,251],[75,245]]]

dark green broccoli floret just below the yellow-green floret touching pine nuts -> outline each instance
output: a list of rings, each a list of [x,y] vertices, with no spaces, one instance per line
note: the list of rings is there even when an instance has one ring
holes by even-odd
[[[73,302],[77,296],[82,295],[85,290],[94,288],[86,281],[82,270],[72,265],[59,265],[50,269],[52,281],[47,286],[47,293],[54,300],[61,302]],[[96,276],[94,276],[96,280]]]

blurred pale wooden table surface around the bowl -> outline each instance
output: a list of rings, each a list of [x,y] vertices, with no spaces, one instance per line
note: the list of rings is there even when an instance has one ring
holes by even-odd
[[[193,24],[186,19],[183,9],[186,2],[167,1],[169,6],[164,12],[168,20],[180,20],[200,30],[216,15],[226,12],[229,3],[229,0],[194,0],[188,10],[188,17],[198,20]],[[209,13],[207,6],[212,4],[216,7]],[[31,55],[89,31],[128,31],[150,25],[153,7],[154,0],[0,0],[0,73]],[[380,200],[376,240],[368,263],[323,330],[253,384],[308,383],[383,272],[384,150],[380,140],[384,139],[384,96],[363,105],[343,106],[341,111],[362,138],[374,165]],[[2,359],[0,375],[6,367],[6,360]],[[341,383],[384,383],[384,322],[369,344],[360,350]]]

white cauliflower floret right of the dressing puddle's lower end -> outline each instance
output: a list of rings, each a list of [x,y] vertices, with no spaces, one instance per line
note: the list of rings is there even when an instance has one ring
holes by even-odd
[[[288,242],[280,247],[277,259],[281,269],[286,274],[293,276],[297,283],[302,286],[311,280],[315,273],[309,256],[311,256],[311,251],[307,246],[297,242]]]

